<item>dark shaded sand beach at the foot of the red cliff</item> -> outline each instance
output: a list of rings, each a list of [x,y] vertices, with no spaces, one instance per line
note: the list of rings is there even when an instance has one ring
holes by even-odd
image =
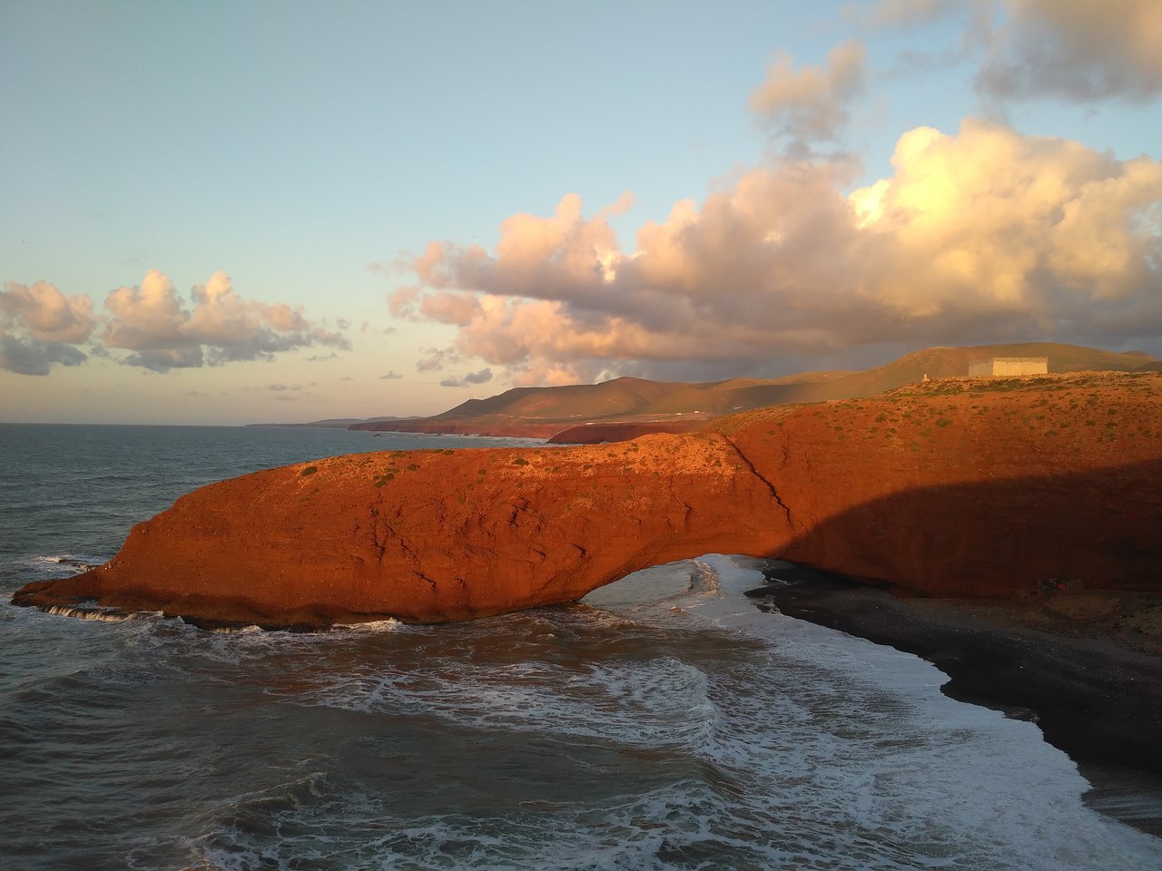
[[[1032,720],[1098,809],[1162,836],[1162,595],[1048,584],[1020,599],[902,598],[786,562],[760,606],[932,662],[944,692]]]

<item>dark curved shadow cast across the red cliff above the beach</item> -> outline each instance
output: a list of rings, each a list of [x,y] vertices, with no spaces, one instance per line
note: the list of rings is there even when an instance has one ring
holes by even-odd
[[[777,484],[777,482],[776,482]],[[905,490],[825,513],[780,556],[921,596],[998,597],[1073,582],[1162,590],[1162,459]]]

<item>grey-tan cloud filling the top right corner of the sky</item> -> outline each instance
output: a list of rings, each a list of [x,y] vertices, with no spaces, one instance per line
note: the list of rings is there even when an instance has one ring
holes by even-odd
[[[1162,94],[1157,0],[1004,0],[978,87],[1002,98]]]

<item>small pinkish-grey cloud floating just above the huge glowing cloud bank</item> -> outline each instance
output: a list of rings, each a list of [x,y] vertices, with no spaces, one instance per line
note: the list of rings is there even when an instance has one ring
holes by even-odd
[[[858,41],[835,45],[823,67],[796,70],[780,52],[766,80],[751,94],[749,108],[786,137],[788,153],[809,154],[820,142],[839,138],[851,106],[865,88],[865,49]]]

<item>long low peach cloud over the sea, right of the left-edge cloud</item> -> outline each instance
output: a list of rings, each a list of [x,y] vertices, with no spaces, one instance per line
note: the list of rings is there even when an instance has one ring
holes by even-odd
[[[191,301],[187,308],[173,282],[150,271],[141,285],[117,288],[106,298],[112,318],[105,343],[134,352],[123,362],[159,372],[270,360],[315,345],[350,350],[340,332],[309,322],[286,303],[243,300],[224,272],[195,285]]]

